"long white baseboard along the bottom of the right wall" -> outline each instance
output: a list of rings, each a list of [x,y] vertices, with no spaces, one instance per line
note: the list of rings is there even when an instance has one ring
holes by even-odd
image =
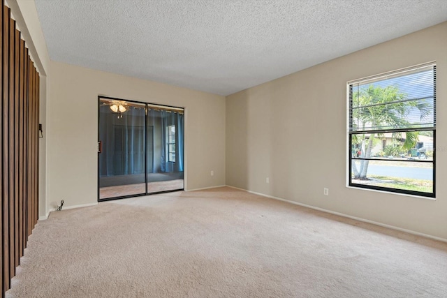
[[[227,185],[227,186],[230,187],[230,188],[238,189],[240,191],[247,191],[247,193],[253,193],[254,195],[261,195],[262,197],[265,197],[265,198],[270,198],[270,199],[274,199],[274,200],[288,202],[288,203],[295,204],[295,205],[298,205],[298,206],[307,207],[307,208],[318,210],[318,211],[323,211],[323,212],[326,212],[326,213],[329,213],[329,214],[334,214],[334,215],[337,215],[337,216],[351,218],[351,219],[353,219],[355,221],[362,221],[363,223],[371,223],[372,225],[379,225],[380,227],[383,227],[383,228],[397,230],[397,231],[400,231],[400,232],[406,232],[406,233],[409,233],[409,234],[422,236],[422,237],[426,237],[426,238],[430,238],[430,239],[434,239],[434,240],[437,240],[437,241],[442,241],[442,242],[446,242],[447,243],[447,239],[444,239],[444,238],[441,238],[441,237],[432,236],[430,234],[424,234],[424,233],[416,232],[416,231],[413,231],[413,230],[407,230],[407,229],[395,227],[394,225],[387,225],[385,223],[379,223],[379,222],[376,222],[376,221],[369,221],[368,219],[365,219],[365,218],[360,218],[360,217],[356,217],[356,216],[350,216],[350,215],[347,215],[347,214],[342,214],[342,213],[339,213],[339,212],[330,211],[328,209],[323,209],[323,208],[320,208],[320,207],[314,207],[314,206],[311,206],[311,205],[308,205],[308,204],[302,204],[302,203],[295,202],[295,201],[285,200],[285,199],[282,199],[282,198],[274,197],[272,195],[265,195],[263,193],[256,193],[255,191],[248,191],[247,189],[244,189],[244,188],[238,188],[238,187],[229,186],[229,185]]]

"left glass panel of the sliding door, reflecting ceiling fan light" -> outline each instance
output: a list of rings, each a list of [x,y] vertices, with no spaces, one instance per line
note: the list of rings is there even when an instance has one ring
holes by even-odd
[[[99,100],[99,199],[146,193],[145,104]]]

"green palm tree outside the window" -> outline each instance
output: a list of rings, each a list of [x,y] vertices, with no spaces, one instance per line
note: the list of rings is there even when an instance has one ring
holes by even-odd
[[[430,105],[428,103],[420,103],[418,100],[406,101],[406,94],[400,93],[399,89],[394,86],[374,87],[369,85],[360,89],[353,94],[353,121],[356,122],[359,131],[365,128],[373,128],[374,130],[391,130],[399,128],[411,127],[406,120],[411,111],[417,109],[420,112],[421,119],[430,114]],[[360,126],[360,127],[359,127]],[[352,144],[361,146],[360,158],[370,158],[377,133],[369,133],[362,135],[352,135]],[[380,135],[379,135],[380,136]],[[418,141],[417,131],[394,132],[393,139],[404,140],[402,147],[406,150],[413,148]],[[369,160],[360,160],[360,170],[357,169],[356,163],[352,162],[352,171],[354,179],[367,179]]]

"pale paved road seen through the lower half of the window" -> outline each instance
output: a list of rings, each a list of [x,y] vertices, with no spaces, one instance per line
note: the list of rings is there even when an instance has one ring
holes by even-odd
[[[389,165],[369,165],[368,173],[385,177],[400,177],[410,179],[433,179],[433,170],[421,167],[393,167]]]

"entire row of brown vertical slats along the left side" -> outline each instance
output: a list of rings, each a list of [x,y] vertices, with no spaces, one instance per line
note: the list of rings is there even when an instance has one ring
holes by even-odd
[[[39,75],[1,0],[0,281],[2,297],[38,222]]]

